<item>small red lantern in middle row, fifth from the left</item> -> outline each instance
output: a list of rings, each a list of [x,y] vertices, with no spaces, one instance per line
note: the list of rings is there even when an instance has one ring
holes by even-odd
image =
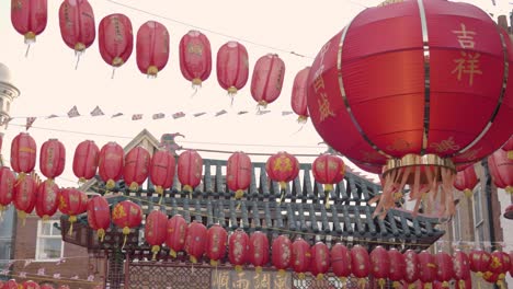
[[[125,155],[123,177],[126,184],[130,184],[132,192],[137,192],[148,178],[150,159],[149,152],[142,147],[136,147]]]

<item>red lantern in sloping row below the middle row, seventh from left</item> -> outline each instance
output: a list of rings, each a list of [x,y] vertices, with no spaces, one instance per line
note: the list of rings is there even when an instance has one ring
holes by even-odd
[[[161,211],[155,210],[146,218],[145,239],[151,246],[153,253],[152,259],[156,259],[157,253],[160,251],[160,245],[166,242],[166,226],[168,224],[168,216]]]

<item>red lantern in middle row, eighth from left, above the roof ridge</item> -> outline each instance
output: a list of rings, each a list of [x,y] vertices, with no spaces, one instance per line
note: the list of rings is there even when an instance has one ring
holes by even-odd
[[[226,164],[226,185],[235,192],[236,199],[240,199],[250,184],[251,159],[243,152],[233,152]]]

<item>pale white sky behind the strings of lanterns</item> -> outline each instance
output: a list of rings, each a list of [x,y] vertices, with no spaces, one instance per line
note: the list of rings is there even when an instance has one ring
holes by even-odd
[[[364,5],[375,5],[375,0],[326,0],[326,1],[236,1],[198,0],[194,2],[164,0],[117,0],[119,3],[152,12],[167,19],[128,9],[110,0],[90,0],[96,26],[101,19],[111,13],[124,13],[133,23],[134,34],[139,26],[149,20],[161,22],[171,34],[171,56],[168,66],[157,79],[147,79],[136,66],[135,49],[127,61],[111,79],[112,69],[101,58],[98,39],[82,56],[79,69],[75,70],[73,51],[60,37],[58,27],[58,8],[61,1],[48,1],[48,24],[45,32],[37,36],[37,43],[31,48],[27,58],[24,57],[25,45],[23,36],[19,35],[10,23],[10,1],[0,2],[0,62],[11,68],[13,82],[22,95],[14,101],[12,116],[39,116],[34,126],[115,135],[128,138],[84,136],[70,132],[58,132],[32,128],[30,134],[35,138],[38,148],[48,138],[60,139],[67,148],[67,165],[65,178],[76,180],[71,171],[72,155],[77,144],[84,139],[94,140],[99,147],[107,141],[117,141],[122,146],[129,141],[140,130],[147,128],[159,138],[164,132],[182,132],[186,136],[183,146],[198,149],[243,150],[247,152],[276,152],[286,150],[290,153],[320,153],[324,146],[310,122],[301,130],[296,123],[296,116],[282,116],[282,111],[290,109],[290,91],[297,71],[312,62],[311,58],[297,57],[269,47],[258,46],[240,41],[249,51],[250,79],[239,91],[230,106],[230,99],[219,86],[213,73],[203,83],[196,95],[179,68],[178,44],[180,38],[193,27],[169,19],[185,22],[202,28],[215,31],[232,37],[226,37],[209,31],[201,30],[210,41],[213,59],[218,48],[235,37],[251,41],[265,46],[277,47],[286,51],[295,51],[314,57],[320,47],[338,33],[358,13]],[[505,0],[497,0],[497,7],[491,0],[466,1],[477,4],[488,12],[509,14],[513,5]],[[285,61],[285,82],[280,99],[269,106],[272,113],[258,116],[256,104],[250,95],[250,81],[254,62],[267,53],[276,53]],[[80,114],[77,118],[44,119],[50,114],[66,114],[77,105]],[[105,116],[90,117],[89,113],[96,106]],[[214,117],[218,111],[226,109],[228,114]],[[249,114],[238,116],[237,112],[248,111]],[[125,116],[111,118],[112,114],[122,112]],[[176,112],[187,115],[181,119],[170,116]],[[192,113],[207,112],[207,115],[194,118]],[[155,113],[166,113],[167,118],[152,120]],[[144,114],[144,119],[133,122],[132,114]],[[9,160],[12,138],[24,127],[25,119],[14,119],[5,131],[2,154]],[[185,142],[187,141],[187,142]],[[213,146],[191,142],[226,142],[273,144],[278,147],[253,146]],[[287,147],[304,146],[304,147]],[[228,154],[201,153],[204,158],[227,159]],[[265,157],[252,157],[253,161],[265,161]],[[311,161],[311,158],[299,158],[300,162]],[[38,166],[37,166],[38,167]],[[59,180],[62,186],[72,183]]]

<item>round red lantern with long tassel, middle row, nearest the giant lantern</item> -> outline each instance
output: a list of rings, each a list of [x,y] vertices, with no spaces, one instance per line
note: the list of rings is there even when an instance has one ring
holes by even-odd
[[[326,193],[326,208],[330,208],[330,194],[333,190],[333,184],[339,184],[344,178],[345,164],[341,158],[324,153],[314,161],[311,165],[311,172],[316,182],[324,185]]]

